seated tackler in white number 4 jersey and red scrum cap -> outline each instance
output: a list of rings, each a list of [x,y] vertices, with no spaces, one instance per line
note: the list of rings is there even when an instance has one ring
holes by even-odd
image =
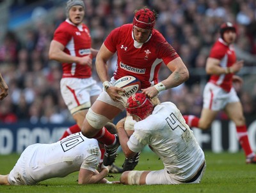
[[[158,171],[125,171],[120,182],[129,185],[200,183],[205,171],[205,157],[193,131],[171,102],[159,103],[137,93],[127,100],[126,110],[136,120],[129,137],[125,118],[116,124],[125,157],[133,157],[146,145],[160,157],[164,168]]]

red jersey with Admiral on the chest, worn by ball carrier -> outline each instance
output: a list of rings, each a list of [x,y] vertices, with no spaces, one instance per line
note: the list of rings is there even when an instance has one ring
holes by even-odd
[[[109,51],[117,52],[115,80],[122,76],[135,76],[141,81],[141,89],[145,89],[158,83],[161,63],[167,65],[179,55],[156,29],[140,48],[134,46],[132,36],[132,24],[125,24],[111,31],[104,45]]]

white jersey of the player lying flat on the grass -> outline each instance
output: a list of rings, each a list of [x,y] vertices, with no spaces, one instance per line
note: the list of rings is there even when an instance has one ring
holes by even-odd
[[[36,182],[67,176],[74,171],[79,171],[81,164],[90,155],[97,157],[99,161],[98,142],[96,139],[84,137],[81,132],[56,143],[40,144],[29,163],[30,175]]]

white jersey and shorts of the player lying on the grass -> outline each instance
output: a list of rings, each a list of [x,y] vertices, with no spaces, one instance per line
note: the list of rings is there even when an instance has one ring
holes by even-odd
[[[33,185],[49,178],[67,176],[80,168],[95,172],[99,160],[97,140],[77,132],[56,143],[30,145],[20,155],[8,182],[11,185]]]

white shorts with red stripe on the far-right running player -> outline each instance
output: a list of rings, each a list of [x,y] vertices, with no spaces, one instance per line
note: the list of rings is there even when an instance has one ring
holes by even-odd
[[[214,85],[214,83],[208,82],[205,85],[204,108],[220,111],[223,110],[228,103],[236,103],[239,101],[240,99],[234,87],[232,87],[230,92],[226,92],[221,89],[221,87],[218,87],[218,85]]]

